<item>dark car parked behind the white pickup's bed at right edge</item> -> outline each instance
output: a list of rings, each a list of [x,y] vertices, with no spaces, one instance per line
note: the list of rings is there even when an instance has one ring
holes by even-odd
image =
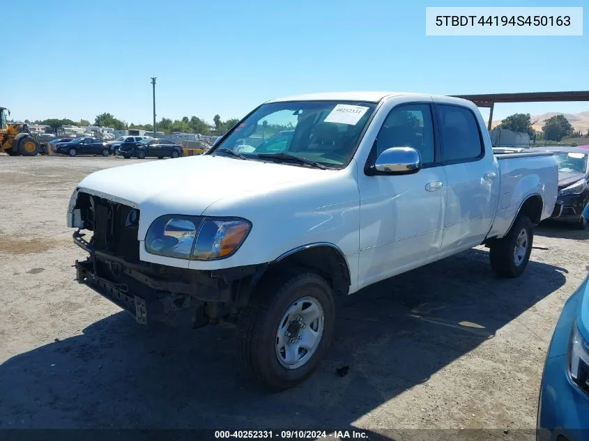
[[[572,222],[585,229],[588,219],[583,208],[589,203],[589,149],[579,147],[530,148],[527,151],[550,151],[558,162],[558,202],[563,212],[558,221]],[[551,218],[552,219],[552,218]]]

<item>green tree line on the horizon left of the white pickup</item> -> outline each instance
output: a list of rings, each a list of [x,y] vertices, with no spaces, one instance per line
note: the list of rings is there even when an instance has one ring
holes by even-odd
[[[25,120],[25,123],[31,124],[31,121]],[[165,134],[171,134],[172,132],[185,132],[185,133],[200,133],[200,134],[214,134],[221,135],[227,132],[231,127],[236,125],[239,120],[237,118],[229,118],[225,121],[221,119],[219,115],[213,117],[214,128],[211,130],[211,125],[206,121],[199,118],[198,116],[184,116],[181,119],[172,121],[170,118],[162,118],[159,122],[155,123],[155,130],[158,132],[164,132]],[[53,130],[56,130],[63,125],[77,125],[85,127],[90,125],[90,121],[81,119],[79,121],[73,121],[69,118],[48,118],[44,120],[36,120],[35,124],[49,125]],[[128,124],[126,121],[121,121],[115,118],[113,114],[108,112],[96,115],[94,118],[94,124],[98,127],[111,127],[114,130],[149,130],[153,131],[153,124]]]

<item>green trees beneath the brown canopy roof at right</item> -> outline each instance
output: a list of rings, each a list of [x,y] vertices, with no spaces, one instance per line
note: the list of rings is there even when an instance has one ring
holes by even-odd
[[[538,133],[533,129],[533,125],[537,121],[532,121],[530,114],[513,114],[507,116],[497,128],[512,130],[514,132],[522,132],[530,135],[533,139],[546,139],[547,141],[562,141],[567,137],[583,137],[580,130],[575,131],[571,123],[564,115],[555,115],[544,121],[542,132]],[[589,130],[584,134],[589,138]]]

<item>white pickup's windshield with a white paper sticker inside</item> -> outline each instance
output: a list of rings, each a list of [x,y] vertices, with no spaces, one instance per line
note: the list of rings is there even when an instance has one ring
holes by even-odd
[[[268,161],[273,160],[268,158],[269,153],[288,153],[325,167],[341,168],[353,154],[375,107],[373,102],[268,103],[236,126],[209,154],[217,148],[229,149],[246,159]],[[275,160],[282,162],[284,158]]]

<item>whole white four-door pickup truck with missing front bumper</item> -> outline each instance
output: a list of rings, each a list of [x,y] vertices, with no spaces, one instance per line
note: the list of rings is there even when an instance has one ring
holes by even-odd
[[[557,192],[553,156],[496,157],[472,102],[322,93],[264,103],[204,155],[92,173],[68,226],[79,283],[139,323],[236,324],[280,390],[326,353],[337,295],[481,244],[519,276]]]

